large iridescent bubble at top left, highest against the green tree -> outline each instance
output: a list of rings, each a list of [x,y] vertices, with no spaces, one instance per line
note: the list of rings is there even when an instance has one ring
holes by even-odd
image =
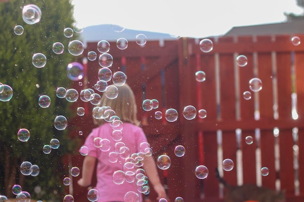
[[[41,19],[41,10],[34,4],[28,4],[23,6],[22,19],[29,25],[36,24]]]

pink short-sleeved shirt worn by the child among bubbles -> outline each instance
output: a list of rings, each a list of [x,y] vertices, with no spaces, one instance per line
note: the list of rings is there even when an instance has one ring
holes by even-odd
[[[136,189],[136,180],[133,183],[126,181],[121,185],[117,185],[113,182],[112,176],[115,171],[123,170],[124,159],[118,154],[118,161],[116,163],[109,162],[109,153],[114,152],[114,146],[116,141],[112,139],[113,128],[109,123],[102,124],[93,131],[86,138],[84,145],[88,147],[88,156],[97,158],[97,184],[96,189],[99,191],[98,202],[123,202],[124,195],[128,191],[134,191],[138,193],[140,202],[142,202],[142,194]],[[93,144],[93,140],[96,137],[101,139],[108,139],[111,142],[111,148],[107,152],[101,151]],[[124,123],[122,129],[122,140],[125,146],[129,148],[130,154],[139,152],[139,145],[141,142],[147,142],[147,138],[142,128],[135,126],[134,124]]]

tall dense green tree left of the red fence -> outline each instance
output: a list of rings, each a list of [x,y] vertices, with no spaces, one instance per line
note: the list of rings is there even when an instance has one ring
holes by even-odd
[[[35,4],[42,11],[40,22],[34,25],[22,20],[22,7]],[[68,87],[66,67],[77,58],[68,53],[71,39],[63,35],[66,27],[73,23],[72,5],[69,0],[10,0],[0,3],[0,82],[13,89],[8,102],[0,101],[0,195],[14,197],[12,186],[18,184],[34,199],[57,199],[63,194],[62,176],[68,174],[63,155],[72,151],[68,131],[54,128],[54,118],[68,113],[68,101],[56,97],[57,87]],[[14,27],[24,28],[22,35],[14,33]],[[77,36],[76,36],[77,37]],[[75,39],[75,36],[73,37]],[[52,45],[61,42],[65,52],[56,55]],[[32,64],[34,53],[43,53],[47,63],[43,68]],[[51,97],[51,106],[43,109],[38,105],[40,95]],[[27,142],[17,139],[20,128],[27,128],[31,137]],[[45,144],[56,138],[59,149],[46,155]],[[40,168],[40,174],[24,176],[18,167],[23,161],[30,161]],[[41,192],[34,187],[41,187]],[[57,198],[56,198],[57,197]]]

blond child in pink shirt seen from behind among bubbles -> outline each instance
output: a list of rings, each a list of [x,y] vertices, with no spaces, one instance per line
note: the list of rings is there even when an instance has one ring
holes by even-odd
[[[103,93],[101,97],[101,107],[108,106],[116,112],[116,116],[123,122],[122,140],[126,147],[129,148],[130,154],[139,153],[139,145],[142,142],[147,142],[147,138],[143,130],[138,126],[139,122],[136,119],[137,108],[135,96],[131,88],[124,84],[118,86],[118,97],[116,99],[108,99]],[[94,114],[93,114],[94,115]],[[111,137],[113,128],[110,123],[102,119],[95,119],[94,123],[100,125],[86,138],[84,146],[88,147],[88,155],[84,157],[82,178],[78,180],[80,186],[90,186],[96,160],[97,164],[97,184],[96,189],[99,191],[98,202],[124,202],[124,196],[127,192],[133,191],[138,193],[139,202],[142,202],[142,194],[137,191],[136,179],[133,183],[124,182],[117,185],[113,182],[113,173],[123,170],[124,159],[119,157],[116,163],[109,162],[108,155],[114,152],[114,141]],[[93,144],[95,138],[108,139],[111,141],[111,148],[107,152],[101,151]],[[143,168],[147,173],[149,182],[152,184],[157,193],[157,200],[166,198],[166,192],[158,176],[155,161],[151,156],[145,156],[143,160]]]

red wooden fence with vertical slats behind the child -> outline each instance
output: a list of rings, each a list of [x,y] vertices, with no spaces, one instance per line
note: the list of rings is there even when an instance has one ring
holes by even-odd
[[[125,50],[110,43],[109,53],[114,58],[111,69],[123,71],[128,77],[154,157],[165,153],[171,158],[171,167],[159,170],[171,201],[178,196],[186,202],[223,201],[216,168],[229,184],[284,189],[287,202],[304,200],[304,45],[294,46],[290,38],[210,38],[213,50],[209,53],[200,50],[200,40],[189,38],[148,41],[143,47],[129,42]],[[97,42],[88,43],[84,55],[92,50],[98,52]],[[248,58],[244,67],[236,64],[241,54]],[[89,61],[84,86],[75,85],[78,90],[92,87],[98,81],[99,69],[98,61]],[[203,82],[195,79],[199,70],[206,74]],[[263,87],[245,100],[243,92],[250,91],[251,78],[260,78]],[[144,111],[144,99],[157,99],[159,108]],[[77,106],[84,105],[89,112],[93,108],[81,100],[77,102]],[[207,117],[186,120],[182,111],[188,105],[205,109]],[[169,108],[177,109],[176,122],[170,123],[164,116],[161,120],[154,118],[156,110],[164,115]],[[93,128],[90,113],[76,117],[73,125],[78,127],[71,134],[83,130],[84,141]],[[247,136],[253,137],[252,144],[246,144]],[[185,146],[183,157],[174,155],[176,145]],[[222,170],[226,158],[234,162],[232,171]],[[81,167],[82,160],[81,155],[74,155],[71,162]],[[195,176],[199,165],[209,169],[206,179]],[[269,175],[261,175],[262,167],[269,168]],[[86,200],[86,190],[78,187],[76,180],[75,200]],[[156,198],[152,189],[149,198]]]

